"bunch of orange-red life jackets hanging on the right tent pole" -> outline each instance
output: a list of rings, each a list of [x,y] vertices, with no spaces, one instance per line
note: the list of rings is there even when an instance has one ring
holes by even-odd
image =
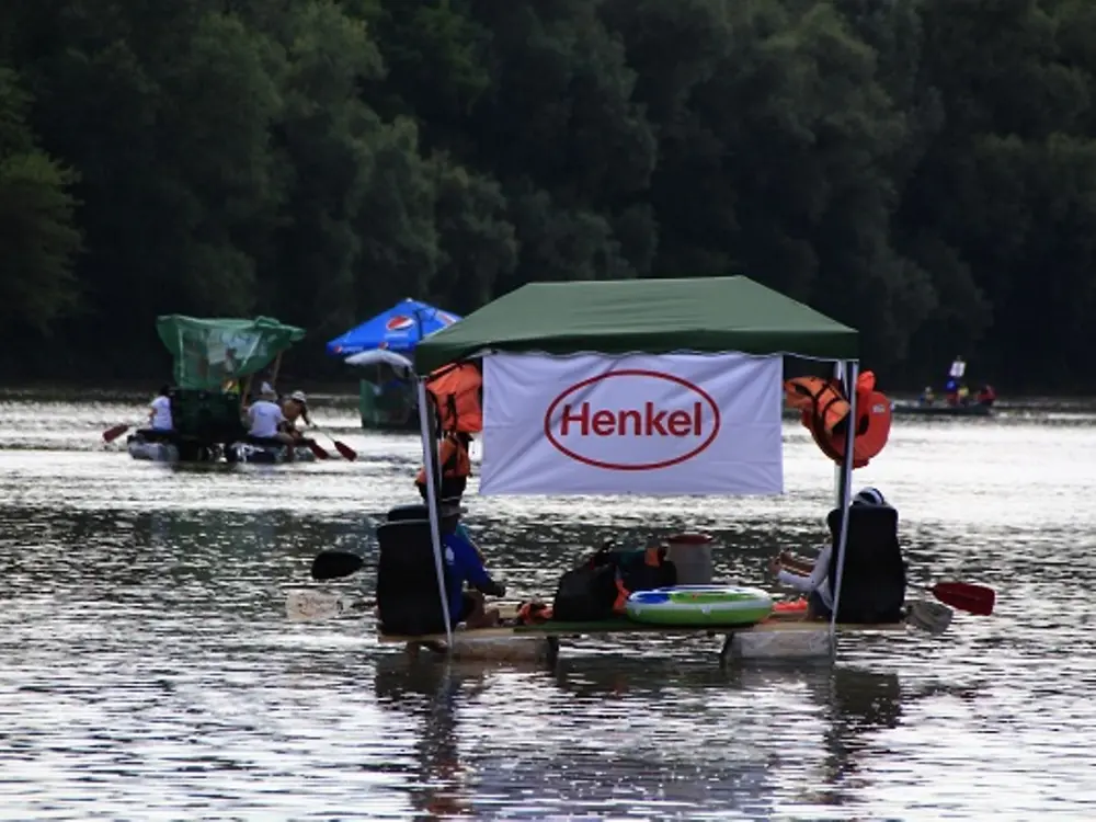
[[[856,381],[853,468],[868,465],[890,438],[891,403],[875,388],[876,375],[864,372]],[[850,406],[841,385],[821,377],[796,377],[786,381],[784,389],[788,404],[801,412],[800,422],[819,449],[833,461],[844,463]]]

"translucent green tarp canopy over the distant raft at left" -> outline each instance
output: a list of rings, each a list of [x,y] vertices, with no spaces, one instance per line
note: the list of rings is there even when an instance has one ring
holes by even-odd
[[[173,313],[157,318],[156,331],[174,361],[175,385],[206,391],[258,374],[305,338],[304,329],[270,317],[197,319]]]

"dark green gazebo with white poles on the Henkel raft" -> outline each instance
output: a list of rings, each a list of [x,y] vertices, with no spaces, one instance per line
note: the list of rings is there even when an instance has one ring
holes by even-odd
[[[629,279],[530,283],[450,328],[431,335],[415,352],[423,458],[434,473],[424,379],[435,368],[496,352],[579,353],[729,353],[791,355],[834,362],[846,386],[856,384],[858,332],[814,309],[744,276],[683,279]],[[856,392],[849,391],[856,418]],[[849,505],[853,437],[849,432],[840,468],[840,505]],[[444,569],[434,483],[427,483],[434,558],[441,590]],[[831,637],[836,631],[841,575],[848,517],[842,517]],[[442,596],[448,626],[448,606]],[[452,642],[452,629],[447,630]]]

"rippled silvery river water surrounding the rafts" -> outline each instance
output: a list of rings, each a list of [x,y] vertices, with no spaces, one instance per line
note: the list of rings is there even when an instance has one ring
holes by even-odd
[[[900,510],[914,593],[989,584],[995,614],[726,671],[709,639],[564,643],[548,670],[288,620],[317,551],[415,499],[414,438],[366,435],[353,398],[313,415],[356,463],[171,469],[103,446],[136,399],[0,397],[0,819],[1096,818],[1096,413],[897,420],[856,486]],[[791,422],[785,465],[783,498],[469,493],[467,523],[512,595],[681,527],[760,583],[824,535],[832,468]]]

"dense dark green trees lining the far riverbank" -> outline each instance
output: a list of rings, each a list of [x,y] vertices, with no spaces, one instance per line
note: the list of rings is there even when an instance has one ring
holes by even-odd
[[[962,353],[1075,388],[1094,136],[1092,0],[4,0],[7,366],[153,376],[163,312],[318,361],[404,296],[745,273],[884,387]]]

